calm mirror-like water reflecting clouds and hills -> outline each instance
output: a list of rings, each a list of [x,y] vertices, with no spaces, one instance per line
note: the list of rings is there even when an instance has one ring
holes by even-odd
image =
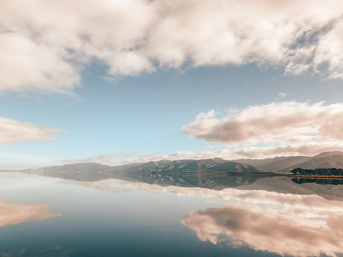
[[[0,173],[0,256],[341,253],[340,183],[225,175]]]

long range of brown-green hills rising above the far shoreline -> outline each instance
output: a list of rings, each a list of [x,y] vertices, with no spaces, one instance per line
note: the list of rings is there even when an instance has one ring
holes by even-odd
[[[65,172],[91,172],[91,173],[231,173],[231,174],[257,174],[257,173],[289,173],[294,168],[343,168],[343,152],[322,152],[316,156],[291,156],[268,159],[239,159],[224,160],[222,158],[201,160],[160,160],[146,163],[130,163],[120,166],[109,166],[99,163],[66,164],[63,166],[50,166],[39,169],[21,170],[25,173],[65,173]]]

